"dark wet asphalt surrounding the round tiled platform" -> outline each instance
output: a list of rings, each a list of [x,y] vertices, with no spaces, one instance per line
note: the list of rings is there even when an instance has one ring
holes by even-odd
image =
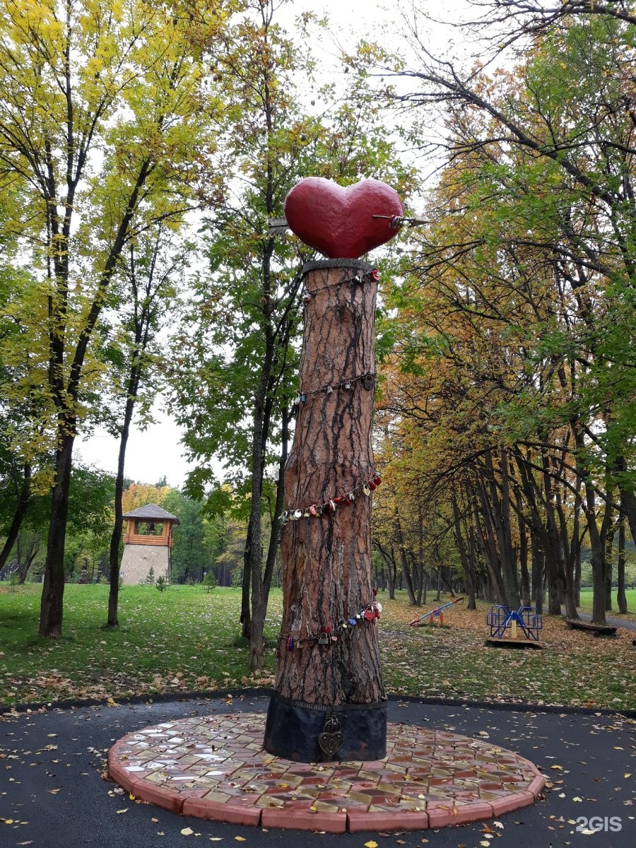
[[[553,784],[534,806],[484,823],[402,834],[314,834],[181,817],[137,803],[104,779],[121,736],[166,720],[265,711],[263,695],[75,706],[0,716],[0,846],[33,848],[636,848],[636,722],[600,713],[510,711],[390,700],[391,722],[477,736],[532,760]],[[482,739],[485,739],[483,735]],[[585,822],[583,823],[583,819]],[[591,821],[590,821],[591,820]],[[574,822],[574,824],[572,824]],[[578,825],[587,833],[577,831]],[[583,827],[583,824],[587,825]],[[182,834],[190,828],[191,834]],[[620,828],[620,829],[619,829]],[[490,839],[487,839],[487,835]]]

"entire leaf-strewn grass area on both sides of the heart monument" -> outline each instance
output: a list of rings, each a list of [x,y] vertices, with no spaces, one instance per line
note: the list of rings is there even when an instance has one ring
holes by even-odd
[[[240,589],[125,587],[120,628],[105,628],[108,586],[70,584],[64,592],[63,637],[36,635],[41,586],[0,589],[0,704],[69,698],[240,689],[271,684],[282,594],[272,589],[265,625],[265,671],[253,675],[239,638]],[[421,610],[405,593],[388,600],[378,622],[389,693],[418,697],[530,702],[563,706],[636,707],[636,633],[594,639],[544,616],[545,650],[484,647],[489,605],[455,606],[448,627],[410,628]],[[434,601],[427,609],[435,606]],[[636,606],[636,603],[634,604]]]

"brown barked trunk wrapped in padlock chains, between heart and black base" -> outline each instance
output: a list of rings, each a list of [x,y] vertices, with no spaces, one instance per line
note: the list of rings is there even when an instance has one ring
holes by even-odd
[[[374,600],[371,497],[363,486],[376,473],[371,420],[377,282],[371,268],[355,260],[311,263],[305,271],[311,297],[305,300],[299,374],[304,400],[285,471],[287,513],[301,510],[302,516],[282,525],[276,693],[330,709],[377,705],[386,700],[377,625],[375,618],[355,617]],[[333,503],[350,493],[349,504]],[[309,514],[315,505],[326,505],[321,515]],[[325,629],[330,639],[319,644]]]

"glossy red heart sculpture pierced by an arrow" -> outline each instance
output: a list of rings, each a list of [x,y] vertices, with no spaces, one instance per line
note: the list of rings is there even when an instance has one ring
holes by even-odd
[[[399,227],[390,226],[395,215],[404,215],[399,194],[379,180],[343,188],[321,176],[308,176],[285,198],[292,232],[330,259],[359,259],[388,242],[399,232]]]

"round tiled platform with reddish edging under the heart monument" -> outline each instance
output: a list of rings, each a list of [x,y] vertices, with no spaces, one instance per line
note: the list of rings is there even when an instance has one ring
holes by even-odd
[[[265,715],[190,717],[120,739],[109,774],[131,795],[186,816],[345,833],[474,822],[533,804],[545,780],[488,740],[388,724],[374,762],[302,763],[263,748]]]

